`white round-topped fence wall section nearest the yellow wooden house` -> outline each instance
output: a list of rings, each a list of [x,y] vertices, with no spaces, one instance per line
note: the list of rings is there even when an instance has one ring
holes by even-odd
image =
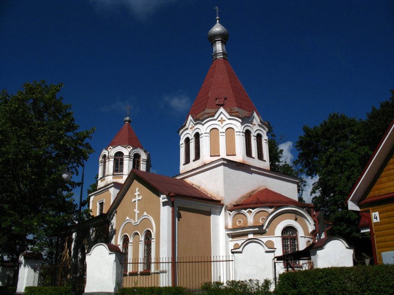
[[[309,252],[314,268],[353,266],[354,249],[338,236],[329,237],[324,246]]]

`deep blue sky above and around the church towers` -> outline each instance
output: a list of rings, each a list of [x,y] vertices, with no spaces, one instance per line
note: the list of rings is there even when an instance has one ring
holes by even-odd
[[[177,130],[212,62],[216,5],[230,64],[289,159],[303,125],[332,112],[365,118],[390,98],[391,0],[1,0],[0,88],[64,83],[81,129],[97,128],[87,186],[127,106],[153,172],[174,176]]]

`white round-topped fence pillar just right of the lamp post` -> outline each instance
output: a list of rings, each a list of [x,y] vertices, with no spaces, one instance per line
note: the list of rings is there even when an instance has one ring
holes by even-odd
[[[86,254],[84,294],[113,294],[122,277],[122,252],[118,246],[98,243]]]

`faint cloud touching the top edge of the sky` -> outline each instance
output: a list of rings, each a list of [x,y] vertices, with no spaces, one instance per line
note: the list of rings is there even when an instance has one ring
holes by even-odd
[[[177,0],[90,0],[98,11],[116,11],[126,7],[137,18],[145,19],[160,7]]]

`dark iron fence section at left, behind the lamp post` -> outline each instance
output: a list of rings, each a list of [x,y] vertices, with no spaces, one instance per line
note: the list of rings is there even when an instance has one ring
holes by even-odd
[[[78,265],[77,290],[83,294],[86,285],[86,264]],[[67,266],[39,266],[34,268],[34,286],[65,287],[72,286],[72,265]]]

